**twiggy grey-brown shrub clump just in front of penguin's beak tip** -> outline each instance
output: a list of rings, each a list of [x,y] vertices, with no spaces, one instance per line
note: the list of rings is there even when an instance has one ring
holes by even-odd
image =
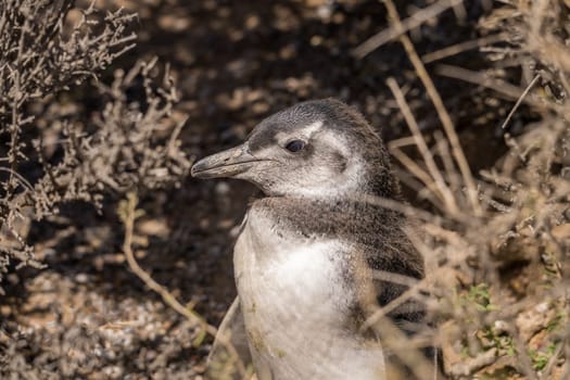
[[[64,155],[55,165],[43,162],[47,175],[34,189],[37,214],[73,200],[98,205],[105,192],[157,189],[187,174],[190,162],[178,140],[186,118],[173,118],[178,99],[168,71],[159,87],[156,75],[156,60],[139,61],[128,73],[117,69],[111,86],[98,85],[109,100],[89,125],[66,118],[56,126],[65,137]],[[140,86],[140,99],[127,96],[134,86]]]

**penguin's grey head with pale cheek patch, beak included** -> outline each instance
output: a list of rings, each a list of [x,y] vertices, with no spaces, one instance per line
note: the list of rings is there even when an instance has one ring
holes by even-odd
[[[200,160],[191,174],[248,180],[267,195],[397,193],[381,138],[360,113],[334,99],[267,117],[244,143]]]

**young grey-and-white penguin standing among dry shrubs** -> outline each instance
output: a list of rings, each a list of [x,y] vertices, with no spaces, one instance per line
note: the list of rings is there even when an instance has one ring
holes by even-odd
[[[210,378],[242,377],[225,366],[236,359],[258,380],[396,378],[381,333],[363,326],[408,289],[376,274],[420,280],[425,264],[413,223],[370,202],[402,197],[381,137],[357,110],[335,99],[295,104],[242,144],[198,161],[191,175],[246,180],[263,193],[236,241],[238,296],[214,342]],[[410,335],[425,314],[408,300],[385,318]]]

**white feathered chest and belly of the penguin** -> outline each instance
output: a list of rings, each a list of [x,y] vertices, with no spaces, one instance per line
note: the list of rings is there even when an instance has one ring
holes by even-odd
[[[380,345],[350,326],[349,255],[342,241],[295,242],[264,217],[246,220],[235,268],[259,379],[383,379]]]

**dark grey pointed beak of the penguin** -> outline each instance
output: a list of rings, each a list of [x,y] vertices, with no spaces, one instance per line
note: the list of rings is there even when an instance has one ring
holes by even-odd
[[[190,174],[195,178],[231,178],[248,172],[259,161],[264,160],[254,157],[242,144],[200,160],[192,166]]]

